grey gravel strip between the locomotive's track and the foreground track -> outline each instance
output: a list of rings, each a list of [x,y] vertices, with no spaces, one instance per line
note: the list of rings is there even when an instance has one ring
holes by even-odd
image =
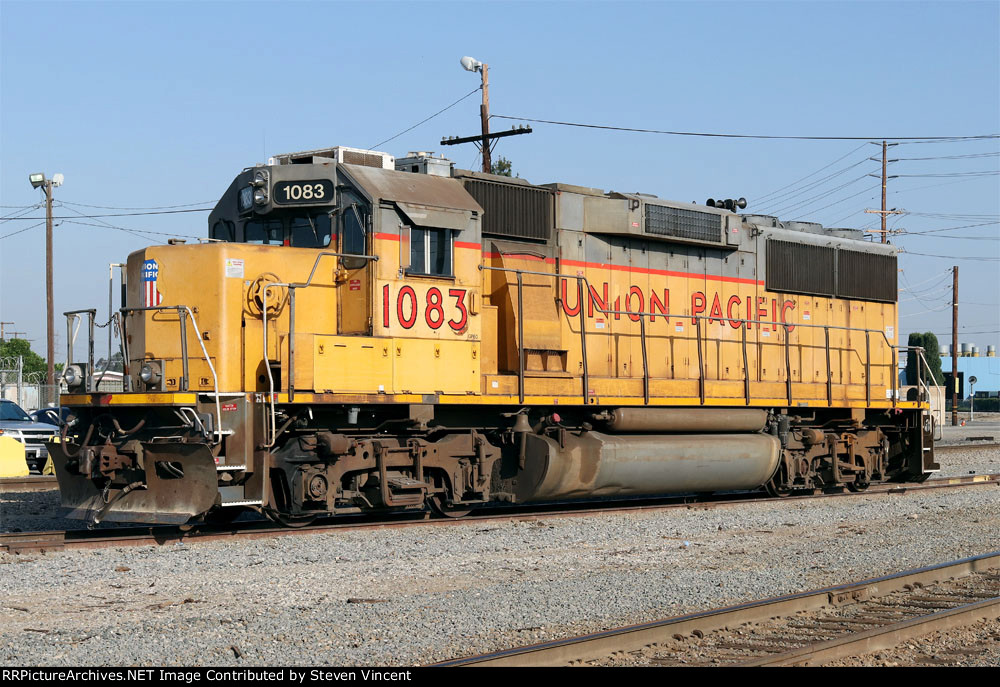
[[[425,664],[1000,548],[995,486],[0,555],[7,664]]]

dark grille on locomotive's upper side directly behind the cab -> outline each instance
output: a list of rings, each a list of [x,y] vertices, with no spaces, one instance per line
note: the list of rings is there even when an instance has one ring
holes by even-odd
[[[465,190],[483,207],[483,233],[547,241],[552,233],[552,192],[478,179]]]

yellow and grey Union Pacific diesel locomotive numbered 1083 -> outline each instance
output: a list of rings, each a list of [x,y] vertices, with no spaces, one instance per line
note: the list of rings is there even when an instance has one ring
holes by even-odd
[[[896,249],[744,205],[345,147],[245,169],[207,240],[128,257],[122,391],[93,334],[69,354],[63,505],[301,524],[924,479]]]

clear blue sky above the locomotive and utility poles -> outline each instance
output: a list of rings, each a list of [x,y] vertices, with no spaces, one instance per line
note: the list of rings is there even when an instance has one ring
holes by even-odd
[[[458,60],[490,65],[492,112],[682,131],[772,135],[963,136],[1000,133],[997,2],[166,3],[0,2],[0,208],[41,199],[28,174],[61,172],[57,200],[112,207],[210,206],[268,155],[370,147],[474,89]],[[494,120],[493,128],[514,124]],[[390,142],[396,155],[445,152],[478,131],[472,95]],[[876,226],[880,153],[862,142],[684,138],[535,125],[497,154],[531,181],[563,181],[675,200],[745,196],[748,211]],[[859,148],[859,146],[861,146]],[[996,139],[901,145],[891,174],[996,171]],[[990,155],[993,153],[993,155]],[[941,159],[947,156],[980,155]],[[803,185],[758,201],[844,157]],[[1000,192],[992,176],[890,179],[909,232],[900,261],[900,329],[950,341],[960,266],[962,341],[1000,341]],[[848,182],[852,182],[848,184]],[[848,184],[838,190],[842,184]],[[796,207],[796,204],[799,204]],[[829,206],[829,207],[824,207]],[[122,212],[72,206],[83,214]],[[42,211],[29,212],[41,216]],[[57,215],[72,215],[68,207]],[[204,236],[207,213],[104,218],[130,230]],[[926,216],[942,215],[942,216]],[[966,217],[968,216],[968,217]],[[97,223],[96,219],[81,219]],[[0,221],[0,237],[35,224]],[[0,238],[0,320],[45,350],[44,227]],[[157,240],[63,223],[61,313],[106,308],[109,262]],[[950,237],[950,238],[943,238]],[[962,237],[962,238],[958,238]],[[159,237],[163,240],[166,237]],[[927,256],[917,255],[927,254]],[[948,256],[948,257],[945,257]],[[955,259],[965,258],[965,259]],[[973,258],[973,259],[968,259]],[[986,258],[986,259],[984,259]],[[912,287],[912,289],[911,289]],[[928,312],[929,311],[929,312]],[[98,349],[102,352],[101,349]]]

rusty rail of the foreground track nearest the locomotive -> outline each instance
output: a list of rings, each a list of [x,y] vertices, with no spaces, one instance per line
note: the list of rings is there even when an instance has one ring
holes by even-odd
[[[794,615],[856,599],[883,596],[907,587],[928,585],[949,577],[1000,568],[1000,551],[957,561],[876,577],[860,582],[824,587],[798,594],[752,601],[711,611],[689,613],[650,623],[543,642],[516,649],[469,656],[438,663],[439,666],[558,666],[635,651],[675,636],[704,636],[726,627]],[[992,600],[994,603],[996,600]],[[975,609],[978,612],[979,609]],[[939,615],[939,614],[933,614]],[[908,628],[911,629],[912,628]],[[921,632],[923,634],[923,632]],[[831,647],[832,648],[832,647]],[[854,653],[853,651],[851,653]],[[793,660],[800,661],[801,656]]]

